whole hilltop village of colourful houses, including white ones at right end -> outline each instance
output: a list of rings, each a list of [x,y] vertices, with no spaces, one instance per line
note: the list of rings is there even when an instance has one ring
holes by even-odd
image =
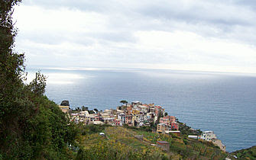
[[[125,100],[120,102],[122,106],[104,111],[89,110],[88,107],[78,107],[76,110],[72,110],[69,101],[62,101],[59,107],[74,123],[134,127],[156,126],[155,132],[157,133],[180,136],[179,121],[176,117],[168,115],[160,105],[142,104],[140,101],[132,101],[131,104]],[[225,145],[217,139],[213,131],[203,132],[199,136],[189,135],[188,137],[212,142],[225,152]]]

